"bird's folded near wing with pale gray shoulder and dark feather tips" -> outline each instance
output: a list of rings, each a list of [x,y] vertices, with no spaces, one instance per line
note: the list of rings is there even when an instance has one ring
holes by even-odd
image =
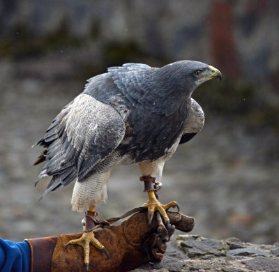
[[[37,143],[45,147],[37,162],[46,160],[38,178],[53,176],[45,194],[76,177],[82,181],[119,146],[125,131],[125,123],[113,107],[84,93],[77,96]]]

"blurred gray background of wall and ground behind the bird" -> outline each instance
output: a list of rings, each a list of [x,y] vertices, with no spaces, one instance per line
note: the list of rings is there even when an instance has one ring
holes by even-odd
[[[204,130],[165,165],[163,203],[194,216],[193,234],[252,243],[279,240],[279,1],[0,1],[0,236],[81,232],[73,184],[39,202],[33,162],[61,108],[89,77],[126,62],[193,59],[222,82],[193,95]],[[146,202],[137,165],[112,172],[101,218]]]

